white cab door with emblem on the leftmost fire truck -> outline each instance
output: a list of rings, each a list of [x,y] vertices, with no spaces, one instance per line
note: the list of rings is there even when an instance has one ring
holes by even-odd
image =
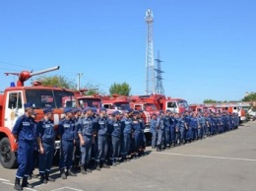
[[[7,92],[5,104],[4,125],[12,130],[17,118],[24,114],[24,97],[22,92]]]

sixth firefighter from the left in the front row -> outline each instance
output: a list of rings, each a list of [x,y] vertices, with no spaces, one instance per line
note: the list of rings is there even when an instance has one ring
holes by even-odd
[[[112,141],[112,165],[119,164],[119,155],[121,149],[121,134],[122,134],[122,125],[120,121],[120,112],[113,111],[112,119],[109,121],[110,132],[111,132],[111,141]]]

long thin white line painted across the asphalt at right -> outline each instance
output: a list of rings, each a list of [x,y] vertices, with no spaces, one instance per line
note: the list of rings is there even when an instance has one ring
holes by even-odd
[[[256,161],[256,159],[223,158],[223,157],[214,157],[214,156],[186,155],[186,154],[175,154],[175,153],[164,153],[164,152],[153,152],[153,154],[169,155],[169,156],[182,156],[182,157],[190,157],[190,158],[231,159],[231,160],[243,160],[243,161]]]

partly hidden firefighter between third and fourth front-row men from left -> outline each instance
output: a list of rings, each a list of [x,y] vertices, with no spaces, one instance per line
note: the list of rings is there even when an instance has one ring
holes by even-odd
[[[74,122],[75,122],[75,147],[74,147],[74,153],[73,153],[73,170],[80,168],[80,140],[78,136],[78,122],[82,114],[82,109],[75,108],[73,110],[74,112]]]

